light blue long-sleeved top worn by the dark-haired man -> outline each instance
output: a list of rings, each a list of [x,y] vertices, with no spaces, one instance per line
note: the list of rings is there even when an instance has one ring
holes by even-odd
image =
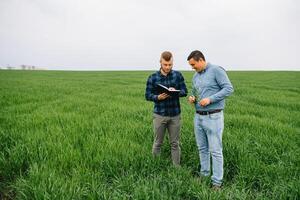
[[[224,109],[225,97],[232,93],[233,86],[222,67],[207,63],[203,71],[194,74],[192,95],[196,97],[197,111]],[[203,98],[209,98],[211,103],[204,107],[200,106],[199,102]]]

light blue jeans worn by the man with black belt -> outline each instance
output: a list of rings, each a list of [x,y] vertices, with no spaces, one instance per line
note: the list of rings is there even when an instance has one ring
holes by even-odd
[[[224,129],[223,111],[209,114],[195,114],[194,131],[199,150],[200,174],[210,175],[210,155],[212,157],[212,184],[220,186],[223,180],[222,133]]]

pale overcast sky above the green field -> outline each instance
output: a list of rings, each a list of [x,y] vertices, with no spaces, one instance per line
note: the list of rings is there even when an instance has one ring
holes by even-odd
[[[0,0],[0,67],[300,70],[299,0]]]

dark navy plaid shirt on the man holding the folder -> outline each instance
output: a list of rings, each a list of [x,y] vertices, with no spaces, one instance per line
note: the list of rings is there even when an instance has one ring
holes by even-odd
[[[173,87],[177,90],[180,90],[179,95],[170,96],[161,101],[158,100],[158,84],[162,84],[168,88]],[[180,72],[171,70],[167,76],[164,76],[160,71],[157,71],[149,76],[145,97],[146,100],[154,102],[154,113],[162,116],[179,115],[181,112],[179,97],[184,96],[187,96],[187,89],[184,83],[184,78]]]

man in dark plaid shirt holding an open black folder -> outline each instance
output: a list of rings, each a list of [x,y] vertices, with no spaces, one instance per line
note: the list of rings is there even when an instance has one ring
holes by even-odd
[[[168,129],[171,144],[172,161],[174,165],[180,165],[180,102],[179,97],[187,96],[187,89],[182,74],[172,70],[172,53],[165,51],[161,54],[160,70],[149,76],[145,97],[154,102],[153,125],[154,143],[152,153],[160,154],[166,129]],[[174,95],[161,93],[158,84],[164,85],[170,90],[180,90]]]

